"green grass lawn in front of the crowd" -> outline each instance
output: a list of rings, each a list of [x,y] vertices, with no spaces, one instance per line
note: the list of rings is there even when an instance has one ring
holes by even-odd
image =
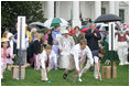
[[[104,64],[101,64],[102,66]],[[67,79],[63,79],[64,70],[51,70],[48,73],[48,79],[52,81],[41,81],[41,72],[34,70],[32,67],[28,67],[25,70],[25,79],[17,80],[11,79],[11,70],[6,70],[4,79],[2,79],[2,86],[129,86],[129,66],[119,66],[117,63],[117,79],[102,79],[101,81],[94,78],[93,72],[87,72],[83,75],[83,81],[71,81],[71,75]]]

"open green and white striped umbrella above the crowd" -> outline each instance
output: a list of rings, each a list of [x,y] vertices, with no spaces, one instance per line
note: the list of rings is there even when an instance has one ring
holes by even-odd
[[[46,26],[48,29],[53,28],[55,25],[68,26],[68,24],[69,23],[62,18],[52,18],[52,19],[48,19],[44,22],[44,26]]]

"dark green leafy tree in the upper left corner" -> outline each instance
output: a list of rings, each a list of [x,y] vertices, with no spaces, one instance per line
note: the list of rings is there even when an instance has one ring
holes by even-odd
[[[1,1],[1,28],[14,28],[18,15],[26,17],[26,23],[41,21],[43,18],[42,3],[40,1]]]

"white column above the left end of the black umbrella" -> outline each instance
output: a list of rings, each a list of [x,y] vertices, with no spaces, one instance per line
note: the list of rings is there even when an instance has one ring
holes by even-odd
[[[101,15],[101,1],[95,1],[95,20]]]

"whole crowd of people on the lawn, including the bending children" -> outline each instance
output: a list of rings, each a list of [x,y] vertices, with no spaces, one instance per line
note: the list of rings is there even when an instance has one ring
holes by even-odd
[[[18,24],[15,24],[15,29],[18,29]],[[101,34],[95,30],[94,23],[85,33],[80,33],[79,26],[75,26],[72,31],[67,26],[61,32],[59,25],[47,30],[45,34],[36,31],[33,28],[30,32],[25,24],[25,44],[22,47],[22,61],[20,62],[20,47],[17,46],[18,33],[13,35],[6,30],[1,39],[1,78],[3,78],[7,64],[13,64],[13,58],[18,55],[17,65],[30,63],[35,70],[41,69],[41,80],[43,81],[48,80],[47,73],[53,68],[65,69],[64,79],[69,73],[76,70],[71,80],[75,81],[78,77],[82,81],[82,75],[94,64],[94,77],[99,79],[100,59],[104,57],[105,48],[99,47],[98,42],[101,40]]]

